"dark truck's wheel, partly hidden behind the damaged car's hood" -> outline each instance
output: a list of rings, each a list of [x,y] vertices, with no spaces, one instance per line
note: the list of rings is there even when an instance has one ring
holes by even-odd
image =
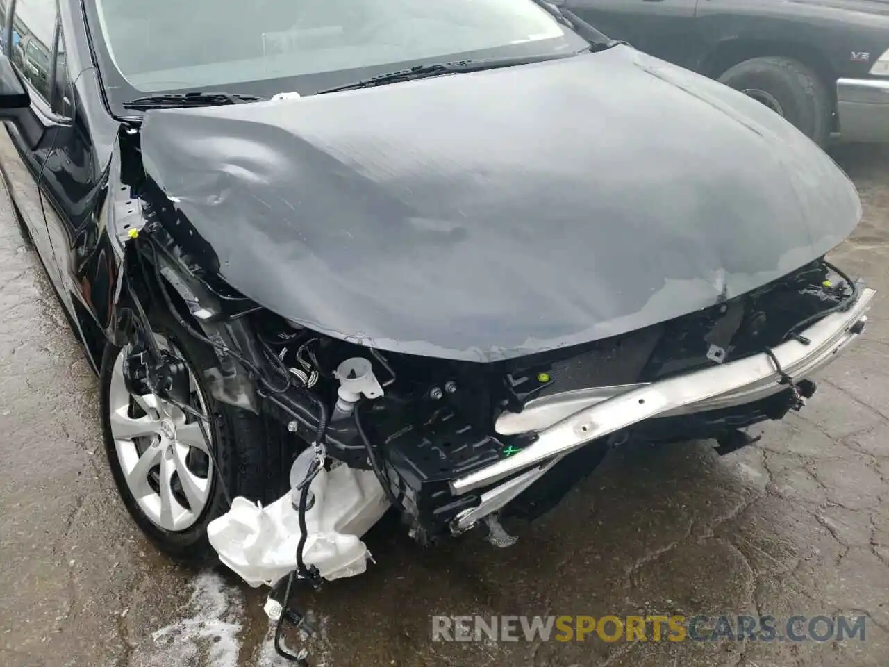
[[[744,60],[727,69],[719,82],[773,108],[809,139],[824,146],[831,129],[833,110],[827,86],[807,65],[790,58]],[[760,95],[759,93],[765,93]]]

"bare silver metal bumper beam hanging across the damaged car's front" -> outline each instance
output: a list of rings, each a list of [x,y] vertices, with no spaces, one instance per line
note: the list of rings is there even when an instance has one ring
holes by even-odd
[[[774,356],[784,372],[798,381],[827,366],[861,334],[867,321],[864,313],[869,309],[874,294],[876,292],[872,289],[862,289],[849,309],[831,313],[802,331],[802,335],[809,340],[808,345],[791,340],[775,347]],[[781,375],[773,359],[765,352],[722,366],[652,382],[565,417],[541,430],[539,438],[517,454],[453,479],[451,490],[456,495],[466,494],[523,470],[522,478],[527,480],[527,484],[522,486],[524,488],[548,470],[554,458],[562,457],[590,440],[653,417],[743,405],[782,389],[786,389],[786,385],[781,384]],[[532,469],[532,466],[536,467]],[[485,496],[489,500],[488,505],[493,506],[504,497],[517,494],[515,480],[501,486],[507,488],[501,489],[499,486],[490,489],[483,496],[483,503]],[[479,509],[472,512],[474,519],[486,513]]]

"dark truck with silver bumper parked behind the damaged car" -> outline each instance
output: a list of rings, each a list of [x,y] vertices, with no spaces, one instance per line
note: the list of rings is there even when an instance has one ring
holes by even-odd
[[[613,39],[718,79],[824,144],[889,141],[889,0],[561,0]]]

